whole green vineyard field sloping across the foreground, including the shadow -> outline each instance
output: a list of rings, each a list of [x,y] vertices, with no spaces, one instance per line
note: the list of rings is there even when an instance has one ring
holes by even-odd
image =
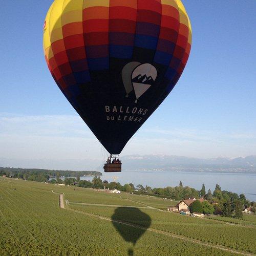
[[[140,208],[162,208],[166,204],[163,199],[133,195],[131,200],[127,199],[129,194],[0,179],[0,255],[127,255],[129,250],[134,255],[234,254],[229,249],[241,254],[256,252],[255,228]],[[59,207],[55,193],[69,200],[66,209]]]

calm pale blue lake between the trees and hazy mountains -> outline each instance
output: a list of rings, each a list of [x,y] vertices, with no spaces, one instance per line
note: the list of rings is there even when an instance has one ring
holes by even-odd
[[[151,187],[178,186],[181,181],[183,186],[189,186],[200,190],[205,184],[206,192],[210,188],[214,191],[216,184],[222,190],[232,191],[233,193],[245,194],[246,198],[256,201],[256,174],[227,174],[227,173],[189,173],[189,172],[169,172],[169,171],[140,171],[126,170],[121,173],[104,174],[102,180],[113,181],[116,176],[117,182],[122,185],[133,183],[135,186],[142,184]],[[81,180],[92,180],[93,177],[81,177]]]

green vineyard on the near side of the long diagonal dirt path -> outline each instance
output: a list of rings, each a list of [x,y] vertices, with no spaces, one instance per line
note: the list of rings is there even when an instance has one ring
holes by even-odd
[[[43,185],[0,180],[0,255],[127,255],[129,250],[134,255],[231,255],[150,231],[133,245],[111,222],[60,209],[54,186]],[[73,195],[71,189],[63,191]]]

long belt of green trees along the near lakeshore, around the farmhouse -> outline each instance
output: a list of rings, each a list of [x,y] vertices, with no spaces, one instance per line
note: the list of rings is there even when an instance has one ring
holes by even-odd
[[[109,188],[118,189],[127,193],[137,193],[145,195],[154,195],[160,197],[168,197],[176,200],[186,198],[204,198],[207,201],[200,202],[196,200],[190,205],[191,212],[199,212],[203,214],[218,214],[226,217],[243,218],[242,211],[244,208],[252,206],[255,211],[255,202],[246,200],[245,195],[238,196],[236,193],[221,190],[220,185],[216,184],[214,193],[212,194],[210,189],[206,193],[205,185],[202,185],[201,190],[196,190],[188,186],[183,187],[180,182],[177,187],[164,187],[164,188],[152,188],[150,186],[143,186],[141,184],[136,187],[132,183],[121,185],[119,182],[102,181],[100,177],[94,177],[91,181],[78,181],[80,187],[93,187],[93,188]]]

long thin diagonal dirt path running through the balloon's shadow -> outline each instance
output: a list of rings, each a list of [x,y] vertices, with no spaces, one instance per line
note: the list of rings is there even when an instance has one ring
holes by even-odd
[[[140,228],[140,229],[143,229],[143,230],[148,230],[148,231],[159,233],[159,234],[164,234],[165,236],[168,236],[168,237],[178,238],[178,239],[181,239],[181,240],[184,240],[184,241],[188,241],[188,242],[192,242],[192,243],[195,243],[195,244],[200,244],[200,245],[203,245],[203,246],[216,248],[216,249],[223,250],[223,251],[228,251],[228,252],[241,254],[241,255],[253,255],[251,253],[245,253],[245,252],[241,252],[241,251],[232,250],[232,249],[226,248],[226,247],[221,246],[221,245],[213,245],[213,244],[201,242],[201,241],[193,239],[193,238],[186,238],[186,237],[183,237],[183,236],[179,236],[178,234],[173,234],[173,233],[161,231],[161,230],[154,229],[154,228],[144,228],[142,226],[138,226],[138,225],[131,224],[131,223],[128,223],[128,222],[119,221],[119,220],[112,220],[110,218],[102,217],[102,216],[95,215],[95,214],[89,214],[88,212],[79,211],[79,210],[75,210],[75,209],[72,209],[72,208],[67,208],[67,209],[72,210],[74,212],[78,212],[79,214],[88,215],[88,216],[95,217],[95,218],[98,218],[98,219],[101,219],[101,220],[116,222],[116,223],[120,223],[120,224],[123,224],[123,225],[126,225],[126,226],[136,227],[136,228]]]

